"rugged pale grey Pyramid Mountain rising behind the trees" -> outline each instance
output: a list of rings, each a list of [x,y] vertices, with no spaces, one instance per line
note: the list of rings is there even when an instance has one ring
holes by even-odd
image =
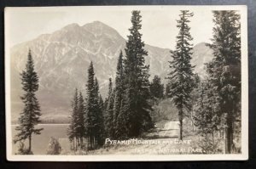
[[[29,48],[39,76],[37,96],[44,121],[67,121],[75,87],[85,93],[90,61],[94,63],[102,96],[107,95],[108,78],[115,76],[119,52],[125,48],[125,38],[108,25],[95,21],[82,26],[67,25],[59,31],[15,45],[10,49],[14,121],[22,110],[20,72],[25,68]],[[146,63],[150,65],[151,78],[159,75],[165,82],[170,49],[147,44],[145,49],[148,51]],[[203,64],[211,58],[211,49],[205,43],[195,45],[192,64],[196,65],[197,72],[203,75]]]

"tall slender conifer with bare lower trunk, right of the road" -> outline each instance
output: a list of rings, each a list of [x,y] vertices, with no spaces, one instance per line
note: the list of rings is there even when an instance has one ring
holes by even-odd
[[[190,110],[190,93],[193,90],[193,66],[190,64],[192,55],[192,37],[189,33],[189,18],[193,13],[189,10],[182,10],[177,20],[177,44],[175,50],[171,51],[172,61],[170,61],[171,72],[168,74],[171,91],[170,97],[173,99],[180,123],[179,139],[183,139],[183,116],[186,110]]]

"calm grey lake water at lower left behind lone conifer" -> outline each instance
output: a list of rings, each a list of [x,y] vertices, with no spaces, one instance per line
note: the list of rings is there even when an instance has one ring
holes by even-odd
[[[15,125],[12,126],[12,136],[15,138],[17,131]],[[67,127],[68,124],[40,124],[37,128],[44,128],[40,135],[32,135],[32,152],[34,155],[45,155],[49,138],[59,138],[62,149],[69,149],[69,142],[67,139]],[[13,143],[13,154],[17,152],[18,145]],[[27,142],[26,142],[27,145]]]

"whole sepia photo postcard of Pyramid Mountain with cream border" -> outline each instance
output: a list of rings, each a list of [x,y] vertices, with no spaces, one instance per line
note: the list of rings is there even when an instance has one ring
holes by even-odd
[[[5,8],[8,161],[245,161],[247,6]]]

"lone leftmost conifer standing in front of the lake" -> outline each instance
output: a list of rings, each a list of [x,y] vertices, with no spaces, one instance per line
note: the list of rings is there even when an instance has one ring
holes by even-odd
[[[20,113],[19,126],[15,127],[17,135],[15,143],[24,141],[28,138],[28,153],[32,153],[32,134],[40,134],[43,128],[35,128],[40,122],[40,105],[36,97],[38,91],[38,74],[34,70],[34,63],[32,59],[31,50],[28,52],[26,68],[20,74],[22,89],[24,95],[20,97],[25,104],[23,111]]]

